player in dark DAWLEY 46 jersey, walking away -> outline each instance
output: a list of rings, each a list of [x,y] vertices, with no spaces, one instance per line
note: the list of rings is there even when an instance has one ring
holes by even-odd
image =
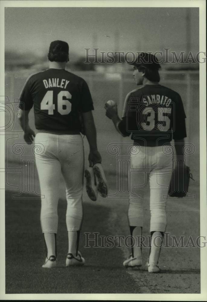
[[[90,146],[89,163],[101,162],[97,150],[96,129],[93,120],[93,102],[86,82],[65,70],[69,61],[69,46],[53,41],[48,53],[49,69],[31,75],[20,95],[19,121],[24,139],[42,146],[36,155],[40,181],[40,221],[47,248],[44,268],[56,266],[56,234],[58,225],[57,204],[60,175],[66,184],[66,225],[69,249],[66,266],[83,265],[85,260],[78,251],[82,224],[82,191],[84,153],[80,135],[82,115],[85,134]],[[34,106],[37,134],[29,127],[28,114]]]

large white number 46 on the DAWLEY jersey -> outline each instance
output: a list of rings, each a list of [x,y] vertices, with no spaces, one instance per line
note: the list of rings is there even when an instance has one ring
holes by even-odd
[[[64,97],[64,99],[63,99]],[[69,114],[71,111],[71,103],[68,101],[72,98],[69,91],[62,90],[57,95],[57,111],[62,114]],[[48,110],[48,114],[54,114],[53,111],[56,109],[55,104],[53,104],[53,90],[46,92],[44,98],[40,104],[41,110]]]

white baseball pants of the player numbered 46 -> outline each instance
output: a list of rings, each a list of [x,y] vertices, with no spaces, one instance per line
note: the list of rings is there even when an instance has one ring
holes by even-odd
[[[66,225],[68,231],[78,231],[82,223],[82,191],[84,151],[82,136],[37,133],[35,145],[44,151],[37,154],[36,166],[40,181],[43,233],[57,233],[59,184],[61,173],[66,184]],[[42,152],[42,153],[41,153]]]

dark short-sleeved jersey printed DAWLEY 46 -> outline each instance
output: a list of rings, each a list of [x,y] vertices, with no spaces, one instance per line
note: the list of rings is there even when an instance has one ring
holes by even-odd
[[[20,95],[20,107],[34,105],[38,130],[81,130],[80,112],[93,110],[87,83],[64,69],[47,69],[30,76]]]

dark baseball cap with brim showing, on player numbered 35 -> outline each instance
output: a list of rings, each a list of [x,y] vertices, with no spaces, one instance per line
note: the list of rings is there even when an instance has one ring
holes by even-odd
[[[156,58],[156,56],[154,56],[151,53],[139,53],[139,55],[137,56],[135,61],[132,62],[127,62],[130,65],[134,65],[134,66],[143,66],[143,67],[147,67],[150,69],[160,69],[161,66]]]

